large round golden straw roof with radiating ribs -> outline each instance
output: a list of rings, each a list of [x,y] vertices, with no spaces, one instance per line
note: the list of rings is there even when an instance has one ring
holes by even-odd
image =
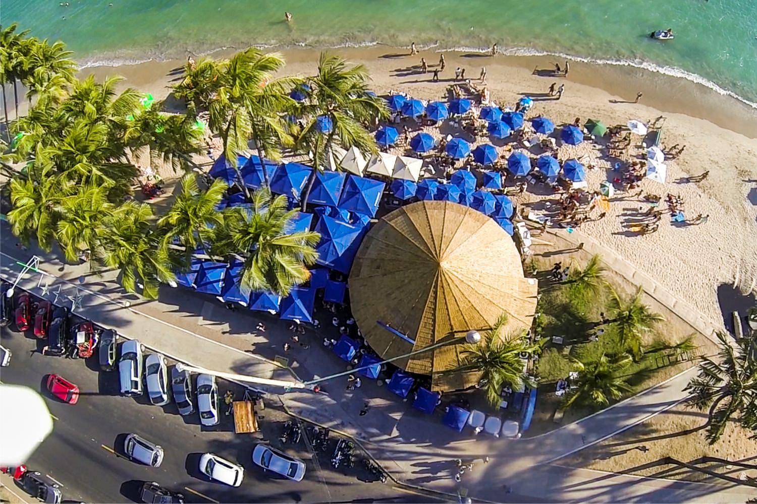
[[[436,390],[474,384],[478,376],[436,373],[459,363],[469,329],[488,329],[503,312],[509,317],[503,334],[531,327],[536,293],[536,280],[524,277],[502,227],[446,201],[413,203],[386,215],[366,235],[350,273],[352,313],[382,357],[456,340],[394,361],[412,373],[434,373]]]

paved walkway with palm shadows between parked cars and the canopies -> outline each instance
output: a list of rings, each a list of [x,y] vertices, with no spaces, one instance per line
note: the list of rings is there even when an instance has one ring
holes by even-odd
[[[5,225],[5,224],[4,224]],[[16,258],[30,252],[14,249],[4,229],[2,250]],[[12,239],[12,237],[11,237]],[[19,267],[8,256],[0,256],[0,273],[14,280]],[[42,269],[60,277],[76,280],[86,274],[83,266],[63,266],[56,261],[43,264]],[[293,348],[284,355],[282,343],[288,342],[285,323],[263,314],[228,311],[207,295],[188,289],[164,288],[160,301],[144,301],[124,296],[112,281],[113,273],[98,278],[86,277],[83,296],[86,317],[105,326],[116,327],[129,338],[136,338],[150,348],[191,363],[228,373],[241,373],[265,378],[289,379],[291,373],[270,360],[282,355],[301,379],[326,376],[344,369],[344,363],[320,344],[320,335],[307,335],[310,348]],[[39,275],[27,275],[20,286],[40,293]],[[60,281],[48,289],[54,298]],[[42,282],[44,285],[44,281]],[[63,289],[72,295],[76,284]],[[131,306],[124,307],[124,301]],[[62,299],[59,299],[62,302]],[[266,323],[266,331],[257,333],[258,321]],[[254,351],[254,354],[245,352]],[[596,473],[578,469],[540,465],[573,453],[609,435],[642,422],[649,416],[678,403],[681,389],[692,370],[670,381],[632,397],[595,416],[567,425],[538,438],[504,440],[481,434],[472,438],[469,431],[457,434],[441,425],[441,413],[424,415],[410,403],[397,400],[383,387],[364,381],[357,392],[344,390],[343,379],[327,382],[326,394],[288,392],[281,394],[283,404],[292,413],[322,425],[338,428],[359,439],[398,481],[445,493],[467,493],[474,499],[515,502],[524,500],[582,501],[655,501],[655,502],[734,502],[743,501],[742,490],[721,485],[682,484],[649,481],[628,476],[598,477]],[[281,390],[272,391],[280,393]],[[366,397],[370,410],[359,416]],[[483,459],[460,484],[453,481],[456,472],[453,459]],[[603,481],[603,484],[596,484]],[[593,483],[594,482],[594,483]],[[512,494],[506,494],[509,487]],[[753,490],[753,489],[752,489]],[[508,497],[512,495],[512,499]]]

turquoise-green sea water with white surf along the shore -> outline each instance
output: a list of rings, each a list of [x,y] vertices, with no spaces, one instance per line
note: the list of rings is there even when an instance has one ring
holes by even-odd
[[[112,1],[112,6],[108,4]],[[246,45],[558,54],[643,66],[757,107],[757,0],[2,0],[3,25],[61,39],[87,65]],[[284,12],[294,14],[285,23]],[[675,39],[649,38],[672,28]]]

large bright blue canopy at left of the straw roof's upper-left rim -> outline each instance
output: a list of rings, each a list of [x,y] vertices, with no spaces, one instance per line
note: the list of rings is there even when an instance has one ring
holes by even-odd
[[[318,258],[316,262],[330,267],[344,274],[350,273],[352,261],[366,227],[363,225],[347,224],[328,215],[323,215],[316,223],[315,231],[321,235],[316,246]],[[328,286],[328,283],[326,283]]]

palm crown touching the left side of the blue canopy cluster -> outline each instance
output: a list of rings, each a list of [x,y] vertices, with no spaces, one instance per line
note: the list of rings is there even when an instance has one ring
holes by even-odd
[[[157,227],[167,243],[176,238],[191,254],[212,240],[213,228],[223,225],[223,213],[216,207],[228,187],[226,182],[216,180],[207,190],[201,190],[194,173],[184,175],[181,186],[181,193],[157,221]]]

